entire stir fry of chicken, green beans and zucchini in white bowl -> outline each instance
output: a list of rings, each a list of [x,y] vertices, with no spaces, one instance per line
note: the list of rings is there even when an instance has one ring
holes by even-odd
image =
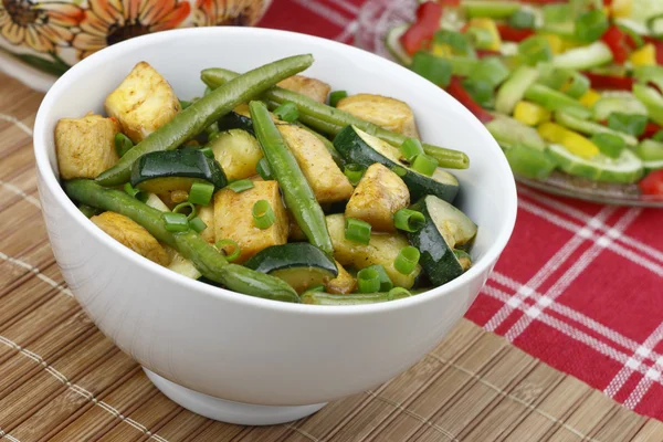
[[[190,101],[138,63],[107,117],[57,123],[65,192],[134,252],[250,296],[369,304],[461,275],[477,227],[442,167],[465,154],[421,143],[403,102],[298,75],[312,63],[204,70]]]

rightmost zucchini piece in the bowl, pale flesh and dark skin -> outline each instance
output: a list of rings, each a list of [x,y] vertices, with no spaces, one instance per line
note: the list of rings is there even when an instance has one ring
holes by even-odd
[[[434,285],[442,285],[463,274],[467,263],[461,262],[454,249],[469,244],[476,235],[476,224],[449,202],[428,196],[411,207],[423,213],[425,225],[408,233],[410,243],[421,252],[419,263]]]

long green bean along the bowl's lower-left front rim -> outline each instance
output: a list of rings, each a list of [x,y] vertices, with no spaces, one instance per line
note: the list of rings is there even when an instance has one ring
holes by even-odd
[[[131,198],[127,193],[99,186],[94,180],[65,181],[66,194],[83,204],[124,214],[143,225],[157,240],[176,249],[190,260],[202,275],[228,288],[250,296],[298,303],[299,297],[284,281],[241,265],[230,264],[223,254],[193,230],[169,232],[162,212]]]

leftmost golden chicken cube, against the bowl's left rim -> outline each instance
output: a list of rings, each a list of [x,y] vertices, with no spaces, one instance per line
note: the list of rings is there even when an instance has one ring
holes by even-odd
[[[115,135],[119,125],[113,118],[87,114],[83,118],[61,118],[55,125],[55,151],[62,179],[96,178],[115,166],[119,156]]]

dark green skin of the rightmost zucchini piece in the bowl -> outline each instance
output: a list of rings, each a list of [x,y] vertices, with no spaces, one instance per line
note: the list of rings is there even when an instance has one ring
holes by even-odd
[[[438,286],[462,275],[463,267],[453,253],[453,249],[446,244],[438,230],[428,210],[425,197],[412,204],[410,209],[423,213],[425,218],[425,224],[420,231],[408,232],[407,235],[410,244],[419,249],[421,253],[419,264],[423,267],[431,283]]]

